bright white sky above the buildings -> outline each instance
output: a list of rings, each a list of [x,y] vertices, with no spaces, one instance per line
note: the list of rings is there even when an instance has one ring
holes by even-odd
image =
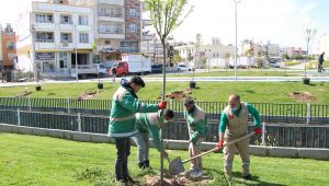
[[[306,48],[303,31],[307,25],[317,30],[317,36],[329,34],[328,0],[237,0],[238,42],[279,44]],[[0,23],[14,24],[19,13],[31,0],[0,1]],[[190,0],[193,12],[173,32],[177,40],[195,40],[196,33],[203,43],[219,37],[223,44],[235,44],[235,3],[234,0]],[[326,10],[327,9],[327,10]],[[327,23],[326,23],[327,21]],[[15,27],[15,25],[13,25]]]

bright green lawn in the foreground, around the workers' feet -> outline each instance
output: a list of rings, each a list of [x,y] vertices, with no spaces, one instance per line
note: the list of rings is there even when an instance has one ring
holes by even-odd
[[[0,185],[113,185],[115,147],[106,143],[76,142],[63,139],[0,133]],[[170,158],[188,158],[186,151],[169,151]],[[159,153],[151,149],[150,162],[159,170]],[[203,158],[212,185],[228,185],[223,173],[223,154]],[[236,155],[231,185],[326,185],[329,163],[307,159],[251,156],[253,181],[240,178],[240,160]],[[129,171],[143,185],[137,167],[136,148],[129,156]],[[188,168],[189,163],[185,164]],[[164,162],[164,167],[168,167]]]

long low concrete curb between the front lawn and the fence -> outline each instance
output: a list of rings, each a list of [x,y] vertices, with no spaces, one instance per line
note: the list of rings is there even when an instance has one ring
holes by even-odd
[[[54,137],[67,140],[97,142],[97,143],[114,143],[114,139],[109,138],[107,135],[89,133],[59,129],[34,128],[16,125],[0,124],[0,132],[35,135],[44,137]],[[134,146],[133,140],[131,140]],[[150,140],[150,147],[154,147]],[[164,149],[172,150],[188,150],[189,141],[182,140],[163,140]],[[208,151],[216,147],[214,142],[203,142],[201,149]],[[263,147],[250,146],[250,154],[259,156],[275,156],[275,158],[303,158],[316,160],[329,160],[329,149],[308,149],[308,148],[284,148],[284,147]]]

